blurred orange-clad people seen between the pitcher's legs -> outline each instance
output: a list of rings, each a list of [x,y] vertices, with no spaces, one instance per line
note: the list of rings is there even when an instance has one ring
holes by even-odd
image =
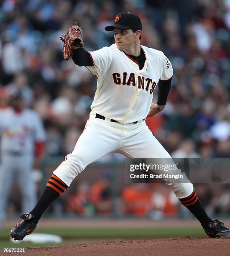
[[[131,184],[112,196],[108,179],[100,179],[89,186],[86,181],[77,186],[64,202],[64,211],[69,214],[92,217],[135,216],[161,219],[179,213],[179,200],[162,184]]]

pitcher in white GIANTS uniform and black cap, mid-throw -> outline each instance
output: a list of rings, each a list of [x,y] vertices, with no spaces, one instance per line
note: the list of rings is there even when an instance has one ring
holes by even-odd
[[[81,30],[73,26],[62,39],[65,59],[72,55],[71,36],[77,30],[80,37]],[[85,130],[73,151],[52,174],[34,209],[23,214],[22,221],[10,230],[15,240],[22,240],[33,232],[51,202],[88,164],[106,154],[118,152],[134,158],[170,159],[144,122],[147,116],[155,115],[166,105],[173,75],[170,61],[161,51],[140,45],[141,20],[133,13],[118,14],[114,24],[105,30],[114,31],[115,44],[93,52],[83,48],[73,52],[74,63],[87,66],[98,78]],[[151,104],[157,83],[158,102]],[[178,174],[178,170],[170,174]],[[183,183],[170,179],[165,182],[200,221],[208,236],[230,237],[230,230],[223,223],[207,216],[187,177],[184,176]]]

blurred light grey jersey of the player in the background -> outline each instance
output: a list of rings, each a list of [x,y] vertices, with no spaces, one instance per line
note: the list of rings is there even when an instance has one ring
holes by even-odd
[[[34,143],[46,134],[38,114],[30,109],[16,113],[9,108],[0,114],[1,154],[33,155]]]

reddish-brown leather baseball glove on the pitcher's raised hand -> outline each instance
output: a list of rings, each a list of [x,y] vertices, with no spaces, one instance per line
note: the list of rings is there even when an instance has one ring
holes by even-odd
[[[72,26],[69,31],[64,35],[61,34],[60,39],[64,43],[63,45],[63,57],[64,60],[68,60],[72,56],[73,47],[83,47],[84,42],[82,39],[82,28],[77,25]]]

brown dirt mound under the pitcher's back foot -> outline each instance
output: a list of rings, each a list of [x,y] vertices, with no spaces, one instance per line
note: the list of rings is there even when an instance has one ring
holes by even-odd
[[[77,244],[70,246],[27,248],[31,256],[191,256],[229,255],[229,239],[161,238],[109,243]],[[11,253],[9,253],[11,254]]]

